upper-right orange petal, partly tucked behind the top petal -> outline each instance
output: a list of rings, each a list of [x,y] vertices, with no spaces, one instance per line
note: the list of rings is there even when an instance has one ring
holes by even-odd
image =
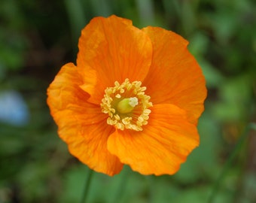
[[[142,29],[151,38],[153,59],[143,85],[153,104],[169,103],[187,111],[197,124],[206,98],[206,81],[200,66],[180,35],[158,27]]]

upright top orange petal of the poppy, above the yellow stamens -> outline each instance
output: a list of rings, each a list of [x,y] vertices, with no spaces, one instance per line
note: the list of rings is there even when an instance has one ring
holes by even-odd
[[[148,35],[130,20],[96,17],[83,29],[78,43],[78,71],[91,97],[99,104],[108,86],[144,80],[151,65],[152,45]]]

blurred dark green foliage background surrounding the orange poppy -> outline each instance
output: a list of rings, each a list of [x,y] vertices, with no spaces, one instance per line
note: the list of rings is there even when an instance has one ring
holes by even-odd
[[[200,147],[177,174],[145,177],[129,167],[114,177],[95,173],[87,202],[209,202],[215,186],[212,202],[256,202],[256,132],[239,141],[256,122],[253,0],[2,0],[0,202],[81,201],[89,170],[58,138],[46,89],[62,65],[75,62],[81,29],[111,14],[190,41],[209,94]]]

